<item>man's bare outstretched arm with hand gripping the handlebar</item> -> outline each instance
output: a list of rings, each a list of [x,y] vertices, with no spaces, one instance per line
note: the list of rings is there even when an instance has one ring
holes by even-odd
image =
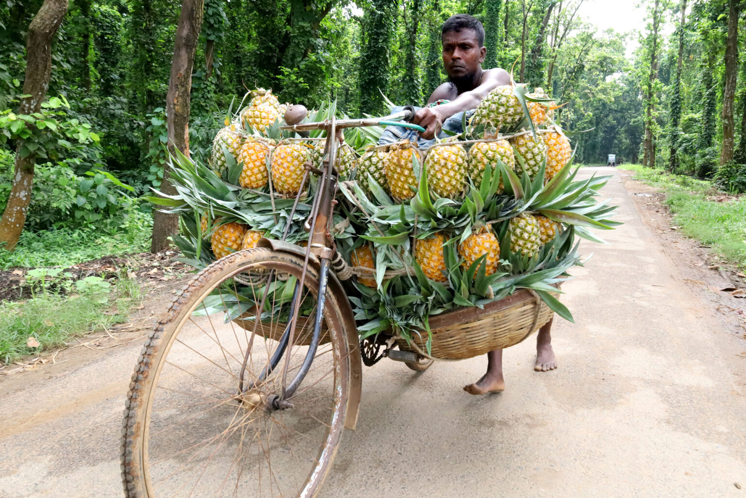
[[[510,84],[511,80],[510,73],[504,69],[488,69],[484,72],[481,84],[474,88],[474,90],[462,93],[456,99],[448,102],[448,104],[438,105],[434,108],[420,109],[415,114],[412,122],[427,128],[426,131],[420,133],[422,138],[425,140],[435,138],[445,119],[448,119],[448,117],[453,116],[455,113],[476,108],[490,91],[501,85]],[[447,88],[445,87],[448,87],[448,84],[442,84],[437,87],[433,95],[430,96],[428,103],[448,98]],[[444,94],[446,96],[442,96]]]

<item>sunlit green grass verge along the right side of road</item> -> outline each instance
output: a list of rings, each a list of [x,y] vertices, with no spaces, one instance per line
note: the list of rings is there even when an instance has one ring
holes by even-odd
[[[712,251],[724,261],[746,267],[746,196],[715,202],[707,197],[725,194],[710,181],[638,164],[619,167],[635,172],[636,179],[664,190],[665,203],[683,234],[712,246]]]

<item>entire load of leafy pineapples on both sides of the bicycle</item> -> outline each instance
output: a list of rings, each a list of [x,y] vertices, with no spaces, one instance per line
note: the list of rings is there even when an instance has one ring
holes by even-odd
[[[307,240],[318,182],[302,180],[304,164],[322,161],[323,132],[281,131],[289,105],[262,89],[248,97],[216,134],[209,165],[172,158],[177,195],[151,199],[181,214],[175,243],[197,268],[261,237]],[[606,178],[574,180],[555,108],[539,88],[498,87],[463,133],[428,149],[377,146],[382,128],[345,129],[333,236],[357,275],[351,303],[363,336],[395,329],[413,337],[429,330],[433,314],[522,287],[571,319],[552,284],[580,264],[576,235],[600,241],[589,228],[616,223],[607,218],[614,207],[595,199]],[[306,121],[335,111],[328,105]]]

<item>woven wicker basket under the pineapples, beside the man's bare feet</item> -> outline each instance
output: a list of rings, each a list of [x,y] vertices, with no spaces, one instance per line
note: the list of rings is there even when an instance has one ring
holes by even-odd
[[[557,286],[559,288],[559,286]],[[464,360],[520,343],[547,323],[554,311],[527,289],[490,302],[483,309],[460,308],[430,317],[433,343],[430,356],[440,360]],[[397,340],[399,349],[423,355],[427,332],[412,343]]]

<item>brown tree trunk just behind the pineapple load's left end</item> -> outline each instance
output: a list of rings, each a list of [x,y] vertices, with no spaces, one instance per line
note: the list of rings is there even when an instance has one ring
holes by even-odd
[[[181,16],[176,28],[174,57],[171,62],[169,92],[166,94],[166,126],[169,134],[169,152],[176,150],[189,157],[189,108],[192,90],[192,67],[197,51],[199,31],[204,17],[204,0],[184,0],[181,2]],[[175,187],[169,181],[171,169],[169,161],[163,170],[160,190],[173,195]],[[169,246],[168,237],[176,234],[179,228],[177,214],[155,211],[153,214],[153,240],[151,252],[159,252]]]

